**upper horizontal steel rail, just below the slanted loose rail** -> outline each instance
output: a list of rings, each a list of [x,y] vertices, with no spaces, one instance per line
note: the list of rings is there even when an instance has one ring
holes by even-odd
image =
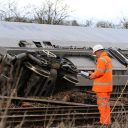
[[[4,112],[6,108],[1,108],[0,112]],[[116,106],[115,110],[128,110],[128,105]],[[87,105],[85,106],[53,106],[53,107],[25,107],[25,108],[8,108],[8,113],[35,113],[35,112],[92,112],[98,111],[97,106]]]

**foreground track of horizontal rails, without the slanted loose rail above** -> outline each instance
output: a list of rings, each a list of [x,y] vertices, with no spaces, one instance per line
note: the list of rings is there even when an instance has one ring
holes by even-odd
[[[23,127],[44,126],[49,123],[51,126],[56,126],[61,122],[74,122],[77,126],[90,124],[99,119],[96,105],[8,108],[4,115],[5,111],[5,108],[0,109],[0,120],[4,120],[6,126],[16,126],[21,123]],[[128,114],[128,106],[125,105],[123,108],[117,106],[111,115],[113,117],[118,114]]]

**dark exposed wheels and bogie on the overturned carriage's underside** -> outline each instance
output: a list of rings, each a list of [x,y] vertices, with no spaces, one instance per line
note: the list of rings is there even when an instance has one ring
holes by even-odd
[[[78,70],[67,58],[43,49],[2,50],[6,52],[1,53],[1,93],[5,95],[15,90],[21,97],[52,96],[78,82]]]

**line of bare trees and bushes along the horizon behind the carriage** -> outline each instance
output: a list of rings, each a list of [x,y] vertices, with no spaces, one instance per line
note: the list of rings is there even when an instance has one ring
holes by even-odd
[[[1,21],[128,29],[126,18],[120,20],[118,25],[109,21],[94,23],[93,20],[85,20],[85,23],[80,24],[77,20],[68,20],[71,12],[63,0],[45,0],[38,7],[28,5],[23,8],[18,8],[15,0],[8,0],[4,5],[0,3]]]

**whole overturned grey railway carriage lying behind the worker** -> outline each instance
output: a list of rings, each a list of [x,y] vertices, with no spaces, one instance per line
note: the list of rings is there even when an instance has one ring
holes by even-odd
[[[51,96],[66,90],[91,90],[92,81],[78,72],[94,70],[91,47],[97,43],[106,50],[118,49],[127,61],[127,30],[8,22],[2,22],[0,27],[3,29],[0,35],[3,95],[15,91],[21,97]],[[127,63],[115,56],[118,52],[108,53],[113,61],[113,93],[119,95],[128,78]],[[127,88],[124,94],[127,95]]]

